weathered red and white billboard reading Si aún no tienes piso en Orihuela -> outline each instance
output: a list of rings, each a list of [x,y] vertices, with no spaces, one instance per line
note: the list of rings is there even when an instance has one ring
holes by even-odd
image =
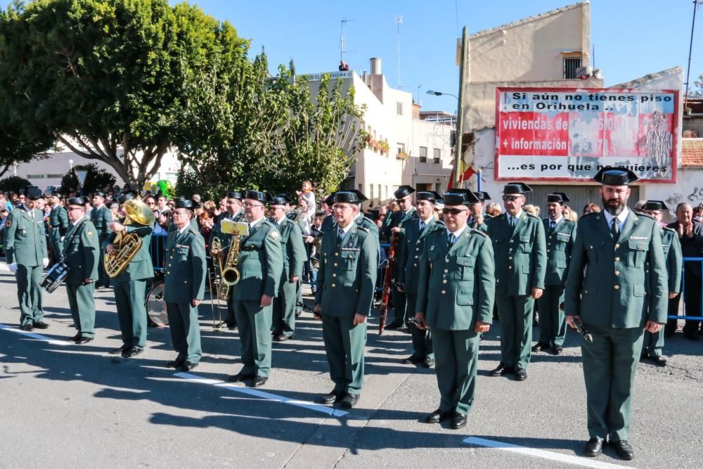
[[[588,181],[602,167],[676,182],[673,90],[497,88],[496,179]]]

